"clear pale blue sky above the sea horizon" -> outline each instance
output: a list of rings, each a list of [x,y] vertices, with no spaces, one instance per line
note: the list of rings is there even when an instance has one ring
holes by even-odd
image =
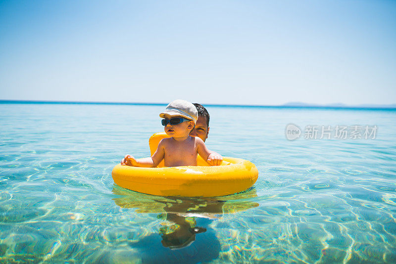
[[[0,99],[396,103],[396,1],[0,1]]]

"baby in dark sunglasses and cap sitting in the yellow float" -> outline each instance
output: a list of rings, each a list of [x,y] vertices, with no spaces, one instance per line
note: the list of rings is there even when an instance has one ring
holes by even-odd
[[[149,158],[135,159],[126,155],[121,165],[134,167],[157,167],[164,159],[165,167],[197,166],[197,153],[211,166],[221,165],[223,157],[205,146],[198,136],[190,136],[198,120],[194,104],[185,100],[174,100],[159,114],[165,133],[170,135],[159,141],[157,150]]]

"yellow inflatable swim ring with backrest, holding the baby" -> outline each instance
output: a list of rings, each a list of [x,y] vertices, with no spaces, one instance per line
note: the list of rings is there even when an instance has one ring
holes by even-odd
[[[149,139],[151,155],[164,132]],[[159,196],[214,197],[247,190],[256,182],[256,166],[243,159],[223,157],[221,166],[207,166],[198,155],[198,166],[140,168],[116,165],[111,172],[114,183],[133,191]]]

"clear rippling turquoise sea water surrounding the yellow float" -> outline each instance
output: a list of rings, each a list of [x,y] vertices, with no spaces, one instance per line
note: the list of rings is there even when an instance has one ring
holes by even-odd
[[[253,188],[158,197],[114,185],[160,105],[0,104],[0,263],[395,263],[396,111],[208,107],[206,145]],[[375,139],[285,137],[289,123]]]

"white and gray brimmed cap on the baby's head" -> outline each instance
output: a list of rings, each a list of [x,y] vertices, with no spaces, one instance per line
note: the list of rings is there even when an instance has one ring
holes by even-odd
[[[161,118],[165,118],[166,116],[182,116],[197,123],[198,110],[195,105],[189,101],[177,99],[170,102],[170,104],[166,106],[165,111],[159,114]]]

